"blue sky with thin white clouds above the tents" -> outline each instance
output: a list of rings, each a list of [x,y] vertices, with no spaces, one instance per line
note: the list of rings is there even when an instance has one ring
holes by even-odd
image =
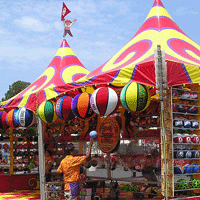
[[[65,19],[77,19],[70,47],[93,71],[136,33],[154,0],[71,0]],[[0,99],[15,81],[33,82],[48,67],[63,39],[60,0],[0,0]],[[200,44],[200,1],[162,0],[177,25]]]

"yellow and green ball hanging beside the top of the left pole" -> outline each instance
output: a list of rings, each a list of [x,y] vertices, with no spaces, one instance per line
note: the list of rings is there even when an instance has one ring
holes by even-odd
[[[40,104],[38,108],[38,114],[42,121],[46,123],[52,123],[57,120],[58,117],[56,115],[54,106],[54,101],[44,101]]]

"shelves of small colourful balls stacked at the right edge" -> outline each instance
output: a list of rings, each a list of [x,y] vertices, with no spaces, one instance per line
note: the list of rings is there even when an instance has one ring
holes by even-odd
[[[174,180],[181,174],[183,177],[176,181],[174,191],[176,195],[180,195],[200,186],[199,180],[194,176],[200,172],[199,114],[196,104],[198,95],[190,88],[177,86],[172,89],[172,96]]]

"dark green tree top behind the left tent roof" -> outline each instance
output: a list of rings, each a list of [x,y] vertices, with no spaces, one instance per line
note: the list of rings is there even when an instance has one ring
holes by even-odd
[[[31,83],[25,81],[16,81],[12,85],[9,85],[9,90],[5,93],[5,97],[2,98],[2,101],[15,96],[20,93],[22,90],[27,88]]]

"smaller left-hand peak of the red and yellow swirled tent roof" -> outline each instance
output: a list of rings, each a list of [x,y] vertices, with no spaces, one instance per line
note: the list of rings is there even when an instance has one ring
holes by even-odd
[[[12,109],[23,107],[35,111],[43,101],[52,99],[60,93],[56,87],[87,75],[89,71],[76,57],[69,44],[63,39],[53,60],[29,87],[11,99],[1,102],[1,107]]]

